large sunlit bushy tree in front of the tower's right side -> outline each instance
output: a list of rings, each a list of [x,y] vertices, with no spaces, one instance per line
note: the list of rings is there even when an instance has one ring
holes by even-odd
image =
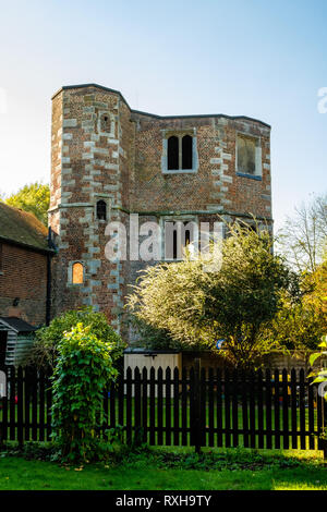
[[[132,314],[165,329],[184,346],[216,346],[235,366],[249,366],[272,342],[263,337],[280,307],[280,292],[291,272],[272,254],[267,230],[259,233],[235,223],[222,244],[219,271],[208,271],[208,256],[148,267],[128,298]],[[214,247],[215,248],[215,247]],[[213,267],[214,268],[214,267]]]

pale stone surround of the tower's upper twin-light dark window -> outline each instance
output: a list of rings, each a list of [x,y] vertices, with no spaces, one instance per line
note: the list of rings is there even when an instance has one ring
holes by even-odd
[[[198,156],[197,156],[197,137],[196,129],[175,129],[175,130],[161,130],[162,132],[162,157],[161,157],[161,171],[162,174],[194,174],[198,169]],[[184,135],[192,137],[192,169],[168,169],[168,138],[175,136],[180,139]],[[181,142],[179,142],[179,148],[181,151]],[[181,159],[181,157],[180,157]]]

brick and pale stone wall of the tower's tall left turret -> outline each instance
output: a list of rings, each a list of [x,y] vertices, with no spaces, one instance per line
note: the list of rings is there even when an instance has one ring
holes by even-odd
[[[52,146],[51,193],[57,200],[49,215],[59,248],[53,261],[52,314],[92,305],[118,328],[125,264],[106,259],[107,223],[97,220],[96,203],[107,203],[110,220],[125,218],[122,209],[129,203],[134,135],[129,108],[114,93],[95,87],[64,89],[53,99],[52,126],[55,138],[56,134],[60,137]],[[61,181],[56,166],[58,147]],[[76,260],[85,267],[84,283],[78,285],[68,282],[69,266]]]

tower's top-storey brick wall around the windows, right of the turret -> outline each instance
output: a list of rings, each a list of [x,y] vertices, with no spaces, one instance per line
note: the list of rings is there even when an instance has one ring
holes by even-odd
[[[270,129],[258,121],[228,118],[157,119],[133,114],[136,122],[131,208],[135,211],[208,210],[271,217]],[[196,174],[161,172],[162,131],[195,131]],[[259,137],[262,180],[235,173],[237,133]]]

